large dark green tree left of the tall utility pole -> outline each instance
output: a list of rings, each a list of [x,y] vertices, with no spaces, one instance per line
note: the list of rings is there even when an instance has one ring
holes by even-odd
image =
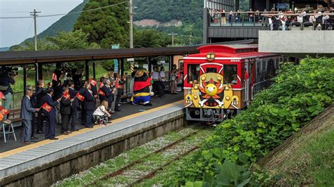
[[[81,13],[74,30],[82,30],[88,34],[87,41],[95,42],[103,49],[111,49],[113,44],[126,47],[129,44],[129,11],[128,4],[119,4],[121,0],[99,1],[89,0],[84,11],[109,6],[96,11]],[[118,4],[116,6],[111,6]]]

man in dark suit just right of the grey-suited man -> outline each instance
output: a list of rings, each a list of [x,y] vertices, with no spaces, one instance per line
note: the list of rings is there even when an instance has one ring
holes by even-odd
[[[47,91],[47,95],[43,97],[43,103],[47,103],[51,106],[51,111],[47,112],[47,110],[43,110],[43,114],[47,119],[47,124],[45,125],[45,138],[50,140],[58,140],[56,138],[56,105],[59,103],[61,98],[58,98],[57,101],[52,100],[52,94],[54,93],[54,89],[49,88]]]

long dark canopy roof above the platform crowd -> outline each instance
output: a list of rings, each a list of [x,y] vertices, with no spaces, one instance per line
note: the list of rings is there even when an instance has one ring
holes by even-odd
[[[218,44],[251,44],[254,40],[227,41]],[[135,49],[81,49],[59,51],[5,51],[0,52],[0,65],[32,63],[75,62],[82,60],[106,60],[150,56],[176,56],[198,53],[196,46],[135,48]]]

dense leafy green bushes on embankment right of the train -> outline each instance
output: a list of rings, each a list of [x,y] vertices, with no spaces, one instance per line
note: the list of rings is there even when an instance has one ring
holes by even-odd
[[[256,162],[333,102],[334,58],[305,58],[282,65],[274,84],[250,107],[219,125],[192,160],[175,172],[177,183],[214,176],[214,165],[237,162],[240,153]]]

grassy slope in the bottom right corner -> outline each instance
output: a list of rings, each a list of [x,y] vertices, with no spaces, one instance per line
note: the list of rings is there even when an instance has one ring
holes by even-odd
[[[333,120],[333,117],[332,117]],[[283,174],[280,185],[334,186],[334,128],[311,134],[275,169]]]

